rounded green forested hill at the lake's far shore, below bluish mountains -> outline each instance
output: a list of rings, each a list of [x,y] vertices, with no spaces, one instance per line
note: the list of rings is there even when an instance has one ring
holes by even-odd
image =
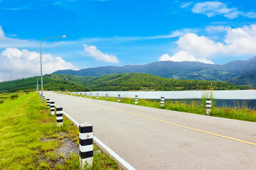
[[[178,80],[156,77],[151,74],[108,74],[87,81],[92,91],[178,91],[249,89],[247,86],[236,86],[223,81]]]

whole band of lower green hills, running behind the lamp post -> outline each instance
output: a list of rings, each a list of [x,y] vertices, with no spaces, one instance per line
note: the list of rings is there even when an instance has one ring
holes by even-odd
[[[176,91],[206,90],[210,86],[215,90],[249,89],[223,81],[177,80],[143,73],[107,74],[100,77],[47,74],[43,77],[44,90],[53,91]],[[27,89],[36,90],[36,77],[0,82],[0,92]]]

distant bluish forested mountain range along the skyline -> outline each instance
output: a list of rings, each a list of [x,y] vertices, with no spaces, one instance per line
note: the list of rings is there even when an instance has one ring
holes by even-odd
[[[256,68],[256,57],[250,60],[238,60],[228,64],[204,64],[201,62],[153,62],[142,65],[122,67],[96,67],[88,69],[59,70],[55,74],[73,74],[76,76],[101,76],[114,73],[146,73],[171,79],[196,79],[209,81],[228,81]],[[256,84],[255,84],[256,86]]]

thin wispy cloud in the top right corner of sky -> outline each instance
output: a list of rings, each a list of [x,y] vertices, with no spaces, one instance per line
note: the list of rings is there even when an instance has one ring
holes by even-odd
[[[205,1],[196,3],[192,8],[193,13],[202,13],[206,16],[224,16],[226,18],[234,19],[238,16],[245,16],[248,18],[256,18],[255,12],[244,13],[238,11],[237,8],[228,8],[228,6],[220,1]]]

